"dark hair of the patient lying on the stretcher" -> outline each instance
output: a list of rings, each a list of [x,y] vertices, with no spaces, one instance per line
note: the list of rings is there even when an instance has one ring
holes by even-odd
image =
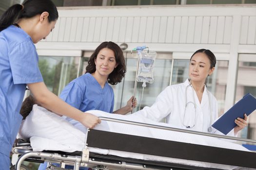
[[[30,114],[32,111],[33,105],[36,104],[36,99],[29,95],[21,104],[20,115],[23,117],[23,120]]]

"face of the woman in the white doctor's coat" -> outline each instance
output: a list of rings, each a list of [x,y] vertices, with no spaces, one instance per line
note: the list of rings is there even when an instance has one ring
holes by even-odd
[[[210,68],[211,63],[207,55],[203,52],[196,53],[189,63],[189,77],[192,81],[203,81],[211,75],[214,68]]]

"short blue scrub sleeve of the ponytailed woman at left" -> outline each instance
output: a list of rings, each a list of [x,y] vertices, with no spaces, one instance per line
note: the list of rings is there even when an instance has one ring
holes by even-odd
[[[9,62],[14,84],[42,82],[38,67],[38,54],[32,41],[24,41],[12,47]]]

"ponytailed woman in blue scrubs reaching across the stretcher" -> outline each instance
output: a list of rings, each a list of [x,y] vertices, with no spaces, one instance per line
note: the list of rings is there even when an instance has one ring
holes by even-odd
[[[57,19],[58,11],[51,0],[26,0],[23,5],[11,6],[0,17],[1,170],[9,170],[9,155],[22,119],[20,106],[26,86],[43,107],[79,120],[90,128],[100,123],[98,117],[82,114],[79,109],[60,100],[43,83],[34,44],[45,39],[54,29]]]

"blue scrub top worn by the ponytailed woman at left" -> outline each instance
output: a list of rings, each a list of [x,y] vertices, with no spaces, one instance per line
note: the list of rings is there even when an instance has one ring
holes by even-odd
[[[26,84],[42,81],[38,68],[38,54],[31,37],[13,25],[1,31],[0,155],[9,157],[20,128],[20,107]],[[2,166],[1,156],[0,165]]]

